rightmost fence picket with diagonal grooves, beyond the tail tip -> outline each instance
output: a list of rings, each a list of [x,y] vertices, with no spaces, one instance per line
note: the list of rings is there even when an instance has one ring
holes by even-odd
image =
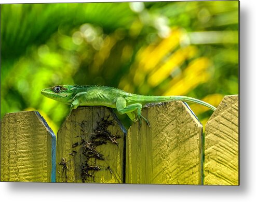
[[[239,185],[238,95],[225,96],[205,128],[204,184]]]

